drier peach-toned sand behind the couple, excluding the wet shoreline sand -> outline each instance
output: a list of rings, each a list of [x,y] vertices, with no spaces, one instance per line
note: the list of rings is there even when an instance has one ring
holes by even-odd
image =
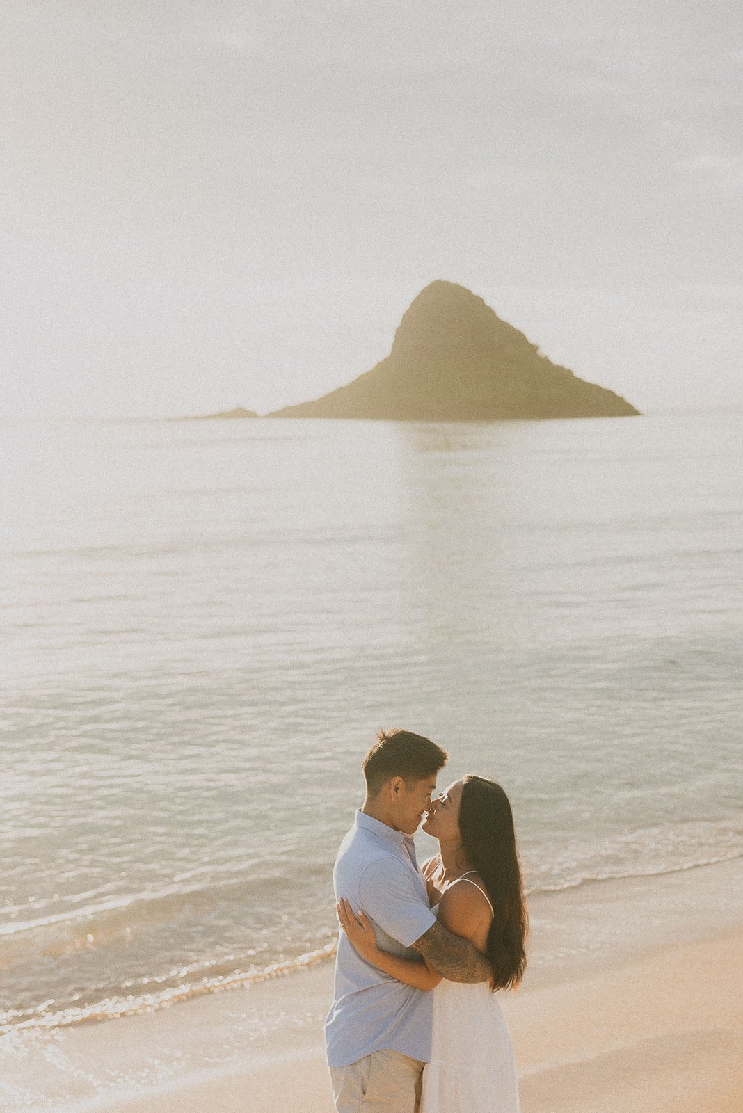
[[[524,1113],[739,1113],[743,933],[504,1003]],[[321,1047],[121,1113],[331,1113]]]

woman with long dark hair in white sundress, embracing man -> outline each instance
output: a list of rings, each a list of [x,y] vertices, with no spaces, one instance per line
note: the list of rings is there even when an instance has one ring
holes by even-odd
[[[420,1113],[519,1113],[511,1038],[494,993],[518,985],[526,963],[526,909],[508,798],[495,781],[467,776],[432,801],[423,829],[440,848],[423,867],[432,909],[488,956],[491,983],[446,982],[425,959],[380,951],[364,913],[357,919],[344,900],[340,925],[367,962],[407,985],[436,989]]]

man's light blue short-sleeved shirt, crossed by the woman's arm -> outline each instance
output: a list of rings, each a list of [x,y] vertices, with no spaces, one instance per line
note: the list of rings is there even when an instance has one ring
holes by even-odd
[[[418,958],[410,944],[436,923],[413,839],[363,811],[336,858],[333,884],[354,912],[365,912],[384,951]],[[367,963],[340,932],[335,993],[325,1022],[329,1066],[348,1066],[374,1051],[428,1062],[433,1003]]]

